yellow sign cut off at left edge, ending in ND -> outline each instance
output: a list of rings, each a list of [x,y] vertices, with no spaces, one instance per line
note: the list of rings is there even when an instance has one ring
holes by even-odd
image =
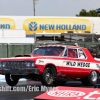
[[[0,29],[15,29],[15,21],[10,18],[0,18]]]

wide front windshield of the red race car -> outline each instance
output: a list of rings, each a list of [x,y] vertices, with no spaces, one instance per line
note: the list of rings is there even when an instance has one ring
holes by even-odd
[[[31,55],[59,56],[63,50],[64,47],[39,47],[34,49]]]

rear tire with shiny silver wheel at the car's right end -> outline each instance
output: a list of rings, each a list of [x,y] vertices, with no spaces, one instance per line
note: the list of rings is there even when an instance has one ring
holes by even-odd
[[[96,71],[92,71],[88,77],[82,78],[81,82],[85,86],[94,86],[97,83],[98,73]]]

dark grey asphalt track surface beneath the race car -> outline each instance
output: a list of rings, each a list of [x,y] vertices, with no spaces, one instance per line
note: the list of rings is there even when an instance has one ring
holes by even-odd
[[[6,82],[1,82],[0,87],[2,86],[8,86]],[[34,97],[39,96],[42,93],[45,93],[46,91],[41,91],[41,82],[36,81],[20,81],[16,87],[27,87],[27,86],[36,86],[39,87],[39,91],[27,91],[27,92],[12,92],[12,91],[0,91],[0,100],[34,100]],[[65,87],[85,87],[82,85],[80,81],[69,81],[65,85]],[[12,87],[13,88],[13,87]],[[93,88],[91,87],[85,87],[85,88]]]

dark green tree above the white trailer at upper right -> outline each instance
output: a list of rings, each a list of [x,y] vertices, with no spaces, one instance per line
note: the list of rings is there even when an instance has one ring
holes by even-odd
[[[90,10],[87,12],[85,9],[82,9],[76,16],[98,17],[100,14],[97,13],[97,10]]]

